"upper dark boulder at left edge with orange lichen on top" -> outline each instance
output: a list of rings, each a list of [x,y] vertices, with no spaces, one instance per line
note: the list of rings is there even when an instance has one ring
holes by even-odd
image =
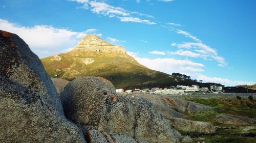
[[[60,99],[40,59],[17,35],[0,31],[0,76],[38,92],[63,114]]]

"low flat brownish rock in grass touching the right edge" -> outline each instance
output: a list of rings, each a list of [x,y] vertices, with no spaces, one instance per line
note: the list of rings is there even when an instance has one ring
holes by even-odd
[[[249,125],[255,123],[255,120],[236,116],[236,115],[228,115],[228,114],[220,114],[215,117],[215,120],[222,124],[231,124],[231,125]]]

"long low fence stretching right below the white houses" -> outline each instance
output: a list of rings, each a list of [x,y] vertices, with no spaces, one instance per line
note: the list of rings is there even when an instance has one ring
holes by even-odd
[[[149,93],[145,93],[149,94]],[[156,95],[156,94],[152,94]],[[253,99],[256,99],[255,93],[186,93],[185,95],[163,95],[173,98],[237,98],[240,96],[242,99],[248,99],[249,96],[252,96]]]

